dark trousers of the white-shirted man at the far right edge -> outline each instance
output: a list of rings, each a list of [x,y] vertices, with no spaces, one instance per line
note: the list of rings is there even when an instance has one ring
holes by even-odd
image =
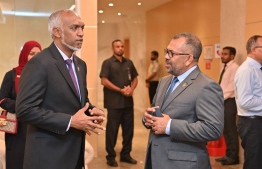
[[[243,169],[261,169],[262,167],[262,118],[250,119],[238,117],[238,133],[244,149]]]

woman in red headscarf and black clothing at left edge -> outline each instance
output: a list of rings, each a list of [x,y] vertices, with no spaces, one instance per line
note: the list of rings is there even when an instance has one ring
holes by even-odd
[[[18,83],[25,64],[41,51],[41,45],[36,41],[24,44],[18,60],[18,66],[8,71],[0,89],[0,107],[9,113],[16,113],[15,101],[18,93]],[[27,125],[18,121],[17,133],[5,133],[6,169],[23,169]]]

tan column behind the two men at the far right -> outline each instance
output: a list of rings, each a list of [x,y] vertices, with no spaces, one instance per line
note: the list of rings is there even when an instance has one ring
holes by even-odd
[[[240,65],[246,59],[246,0],[221,0],[220,3],[220,48],[235,47],[235,61]],[[221,63],[220,67],[222,66]],[[239,147],[239,160],[243,163],[244,151],[241,145]]]

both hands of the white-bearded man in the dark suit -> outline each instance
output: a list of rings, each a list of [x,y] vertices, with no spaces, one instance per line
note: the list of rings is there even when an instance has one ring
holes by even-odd
[[[87,116],[85,111],[88,109],[89,103],[78,110],[73,116],[71,120],[70,127],[83,130],[88,135],[92,135],[92,133],[100,134],[99,130],[106,130],[105,127],[102,126],[103,121],[105,120],[105,114],[102,110],[94,107],[92,110],[89,110],[91,116]]]

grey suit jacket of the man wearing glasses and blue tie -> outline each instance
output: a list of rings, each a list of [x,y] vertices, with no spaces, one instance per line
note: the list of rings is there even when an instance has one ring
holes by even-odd
[[[170,135],[150,131],[145,169],[150,168],[149,157],[152,169],[210,169],[206,143],[219,139],[223,131],[222,89],[197,67],[162,104],[171,79],[161,79],[153,100],[153,106],[172,119]]]

